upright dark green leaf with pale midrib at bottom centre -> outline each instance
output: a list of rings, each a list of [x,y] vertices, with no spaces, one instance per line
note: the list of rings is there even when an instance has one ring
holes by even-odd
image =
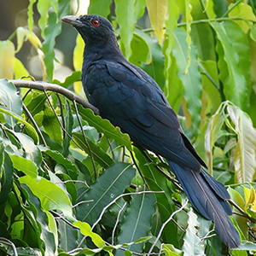
[[[119,243],[130,243],[148,236],[148,231],[151,229],[151,218],[155,212],[154,204],[153,194],[143,193],[131,196],[131,204],[127,208],[125,219],[120,226]],[[127,249],[133,252],[142,252],[143,243],[132,244]],[[123,252],[119,250],[115,255],[123,255]]]

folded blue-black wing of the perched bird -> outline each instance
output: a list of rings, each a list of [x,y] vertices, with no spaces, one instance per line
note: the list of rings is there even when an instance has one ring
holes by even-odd
[[[96,70],[96,77],[90,75]],[[147,73],[126,61],[99,61],[88,68],[84,84],[102,116],[135,143],[198,172],[205,166],[183,135],[166,96]]]

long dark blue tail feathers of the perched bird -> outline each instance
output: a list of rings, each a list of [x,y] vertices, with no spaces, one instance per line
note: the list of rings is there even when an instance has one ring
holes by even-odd
[[[193,172],[177,166],[170,160],[167,162],[196,211],[213,221],[218,236],[228,247],[238,247],[240,238],[228,217],[232,211],[226,201],[230,199],[230,195],[224,185],[218,183],[202,167],[201,172]]]

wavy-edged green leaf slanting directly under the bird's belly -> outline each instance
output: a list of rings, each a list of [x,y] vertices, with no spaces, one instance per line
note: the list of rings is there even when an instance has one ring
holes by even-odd
[[[114,127],[107,119],[102,119],[100,116],[96,116],[88,108],[85,109],[79,105],[78,109],[82,119],[86,120],[90,126],[95,127],[98,132],[104,133],[109,139],[113,138],[117,143],[131,150],[129,135],[122,133],[119,127]]]

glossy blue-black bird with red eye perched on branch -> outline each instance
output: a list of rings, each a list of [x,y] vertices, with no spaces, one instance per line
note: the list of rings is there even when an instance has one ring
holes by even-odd
[[[82,82],[89,102],[140,147],[160,154],[172,168],[197,212],[212,219],[221,240],[240,245],[230,221],[230,195],[203,167],[177,115],[154,79],[125,59],[111,22],[99,15],[66,16],[84,39]]]

